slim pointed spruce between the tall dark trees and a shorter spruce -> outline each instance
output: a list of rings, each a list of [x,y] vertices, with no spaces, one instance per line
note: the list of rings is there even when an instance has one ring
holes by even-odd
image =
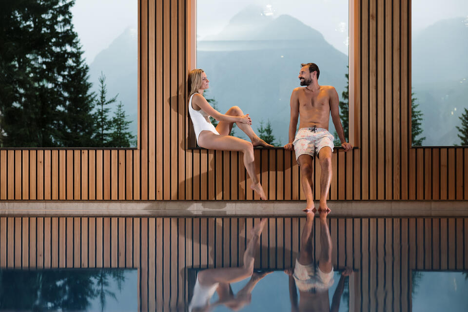
[[[98,78],[99,80],[99,97],[96,102],[96,128],[97,133],[95,140],[97,141],[97,147],[111,147],[111,131],[112,131],[112,119],[109,117],[110,104],[117,101],[116,95],[114,98],[107,99],[107,87],[106,87],[106,76],[101,72],[101,75]]]

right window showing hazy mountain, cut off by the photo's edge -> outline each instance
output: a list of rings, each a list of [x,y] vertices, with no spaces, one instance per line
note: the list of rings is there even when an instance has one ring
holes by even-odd
[[[468,2],[411,5],[412,145],[468,145]]]

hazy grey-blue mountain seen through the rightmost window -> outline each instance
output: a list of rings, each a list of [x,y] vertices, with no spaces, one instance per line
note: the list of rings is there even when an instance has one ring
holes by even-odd
[[[412,40],[412,92],[424,113],[424,145],[460,144],[455,125],[468,107],[468,26],[460,17],[439,20]]]

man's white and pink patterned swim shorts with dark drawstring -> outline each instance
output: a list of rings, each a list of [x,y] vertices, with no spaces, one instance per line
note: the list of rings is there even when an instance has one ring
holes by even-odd
[[[333,140],[334,137],[328,132],[327,129],[323,128],[301,128],[297,131],[296,137],[294,137],[294,151],[297,158],[303,154],[312,156],[317,155],[322,147],[328,146],[333,151]]]

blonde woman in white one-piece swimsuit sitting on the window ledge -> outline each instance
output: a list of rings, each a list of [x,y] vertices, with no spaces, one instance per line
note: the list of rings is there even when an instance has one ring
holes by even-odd
[[[244,115],[238,106],[231,107],[226,114],[216,111],[203,97],[203,91],[208,89],[210,81],[202,69],[189,72],[189,113],[194,125],[196,142],[199,146],[209,150],[239,151],[244,153],[244,165],[252,179],[251,188],[266,199],[263,188],[255,175],[254,146],[273,147],[259,138],[252,129],[249,114]],[[219,121],[213,126],[208,117]],[[230,136],[234,122],[252,141],[248,142],[238,137]]]

